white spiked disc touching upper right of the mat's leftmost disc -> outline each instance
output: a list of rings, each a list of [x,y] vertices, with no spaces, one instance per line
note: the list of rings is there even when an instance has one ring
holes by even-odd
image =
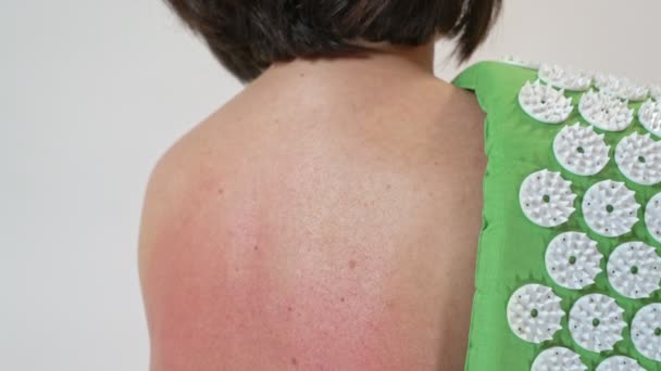
[[[559,285],[579,290],[595,283],[601,271],[599,263],[603,255],[597,242],[582,232],[558,234],[546,250],[546,269]]]

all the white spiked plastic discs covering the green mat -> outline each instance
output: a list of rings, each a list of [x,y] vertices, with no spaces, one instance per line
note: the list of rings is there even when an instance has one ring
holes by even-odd
[[[637,115],[649,132],[633,132],[623,138],[615,148],[614,161],[633,182],[659,187],[661,141],[650,138],[650,132],[661,137],[661,87],[644,87],[625,78],[556,65],[535,67],[538,79],[525,84],[519,102],[529,116],[541,123],[561,124],[569,118],[574,107],[572,99],[564,95],[565,89],[585,91],[578,102],[578,112],[590,126],[579,123],[564,126],[553,140],[553,153],[562,167],[581,176],[601,171],[610,161],[610,145],[604,142],[603,133],[598,135],[593,127],[606,131],[626,129],[634,120],[634,110],[629,108],[628,102],[644,101]],[[640,207],[634,194],[624,182],[603,180],[595,183],[583,199],[586,223],[596,233],[609,238],[631,232],[638,221],[636,215]],[[548,169],[531,174],[520,189],[521,207],[526,217],[547,228],[569,220],[575,210],[575,197],[571,181]],[[661,192],[647,203],[645,223],[652,238],[661,242]],[[602,258],[596,241],[586,233],[572,231],[557,235],[548,244],[545,260],[547,271],[557,284],[582,290],[595,283],[601,272]],[[661,289],[661,257],[654,247],[640,241],[620,244],[608,258],[607,276],[610,285],[621,295],[635,299],[649,297]],[[561,329],[560,322],[565,315],[560,302],[551,287],[521,286],[508,304],[512,331],[531,343],[551,340]],[[612,350],[623,340],[622,331],[627,325],[623,312],[624,309],[608,295],[596,293],[579,297],[569,314],[572,338],[590,351]],[[644,357],[661,361],[661,303],[644,306],[635,314],[631,335]],[[576,353],[560,346],[542,350],[532,366],[533,371],[586,369]],[[609,370],[645,369],[635,359],[619,355],[604,359],[597,367],[597,371]]]

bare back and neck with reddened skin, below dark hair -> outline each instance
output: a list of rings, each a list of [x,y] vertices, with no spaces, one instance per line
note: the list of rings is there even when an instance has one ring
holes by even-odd
[[[146,192],[151,371],[463,370],[486,165],[433,48],[277,64]]]

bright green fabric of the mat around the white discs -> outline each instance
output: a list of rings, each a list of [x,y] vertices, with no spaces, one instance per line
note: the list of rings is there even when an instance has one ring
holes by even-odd
[[[519,105],[517,95],[526,80],[537,78],[537,71],[519,67],[501,62],[479,62],[462,72],[452,84],[472,90],[486,113],[485,152],[488,157],[484,177],[483,227],[477,252],[475,294],[470,330],[470,344],[465,370],[467,371],[519,371],[529,370],[535,357],[552,346],[564,346],[581,356],[581,360],[594,370],[609,356],[623,355],[636,359],[647,370],[661,370],[660,362],[645,358],[631,341],[629,329],[634,314],[644,305],[661,302],[661,292],[657,291],[650,298],[631,299],[619,295],[609,284],[606,274],[606,263],[614,247],[627,241],[641,241],[659,252],[659,243],[649,234],[644,222],[644,209],[647,202],[661,191],[661,187],[640,186],[627,180],[613,161],[616,143],[632,131],[646,133],[637,117],[624,131],[608,132],[595,128],[598,133],[606,133],[606,142],[611,145],[608,166],[590,177],[577,176],[565,170],[556,159],[552,151],[553,138],[565,125],[576,121],[587,125],[577,112],[581,92],[566,91],[573,98],[574,111],[570,118],[560,125],[544,124],[526,115]],[[636,111],[640,103],[631,103]],[[523,179],[529,174],[548,168],[560,171],[562,177],[572,181],[572,191],[577,194],[574,201],[576,210],[570,220],[554,228],[544,228],[528,220],[519,202],[519,190]],[[586,190],[600,180],[624,181],[626,187],[636,192],[639,221],[631,233],[619,238],[604,238],[591,231],[581,213],[581,202]],[[603,254],[601,269],[596,284],[583,290],[569,290],[559,286],[549,277],[545,266],[545,252],[548,243],[564,231],[585,232],[598,242]],[[507,319],[507,304],[512,293],[526,283],[539,283],[553,289],[562,298],[565,312],[552,341],[541,344],[527,343],[519,338],[511,330]],[[581,296],[601,293],[616,299],[625,310],[627,323],[623,341],[615,345],[613,351],[601,354],[586,350],[578,346],[570,334],[568,317],[572,304]]]

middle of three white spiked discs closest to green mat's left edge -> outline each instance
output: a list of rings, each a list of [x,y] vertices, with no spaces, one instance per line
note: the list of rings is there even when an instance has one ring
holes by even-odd
[[[560,172],[542,169],[528,175],[521,183],[519,201],[525,216],[541,227],[556,227],[568,221],[575,208],[576,194],[571,181]]]

